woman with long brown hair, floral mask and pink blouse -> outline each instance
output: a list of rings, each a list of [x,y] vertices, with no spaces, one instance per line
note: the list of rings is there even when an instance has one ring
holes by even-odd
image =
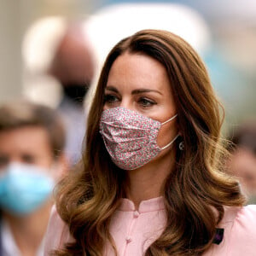
[[[182,38],[145,30],[119,42],[45,255],[253,255],[256,208],[221,170],[220,128],[207,70]]]

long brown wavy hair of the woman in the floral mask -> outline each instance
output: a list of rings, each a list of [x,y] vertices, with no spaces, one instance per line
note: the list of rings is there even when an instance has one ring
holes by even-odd
[[[105,61],[90,108],[83,161],[57,191],[57,210],[75,241],[54,255],[100,256],[107,241],[117,254],[109,222],[125,196],[126,175],[110,159],[99,121],[108,73],[125,52],[151,56],[166,68],[185,145],[183,151],[177,150],[175,167],[163,181],[166,229],[145,255],[200,255],[212,244],[224,206],[241,206],[244,197],[239,184],[222,170],[223,118],[206,67],[182,38],[159,30],[123,39]]]

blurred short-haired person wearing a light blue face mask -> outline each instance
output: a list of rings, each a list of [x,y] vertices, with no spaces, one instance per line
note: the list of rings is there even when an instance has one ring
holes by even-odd
[[[0,106],[0,255],[43,255],[52,190],[67,169],[55,110],[27,101]]]

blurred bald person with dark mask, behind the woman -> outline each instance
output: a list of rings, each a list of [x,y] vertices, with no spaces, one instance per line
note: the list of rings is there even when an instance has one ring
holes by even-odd
[[[81,157],[86,127],[84,96],[94,75],[90,44],[79,24],[68,24],[57,44],[48,73],[61,83],[63,96],[57,109],[67,127],[67,155],[72,164]]]

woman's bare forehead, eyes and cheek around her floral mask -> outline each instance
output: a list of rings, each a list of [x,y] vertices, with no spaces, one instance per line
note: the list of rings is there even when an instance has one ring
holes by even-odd
[[[128,108],[161,123],[177,109],[165,67],[148,55],[125,53],[114,62],[105,88],[104,110]],[[177,118],[162,125],[157,143],[166,146],[177,135]]]

